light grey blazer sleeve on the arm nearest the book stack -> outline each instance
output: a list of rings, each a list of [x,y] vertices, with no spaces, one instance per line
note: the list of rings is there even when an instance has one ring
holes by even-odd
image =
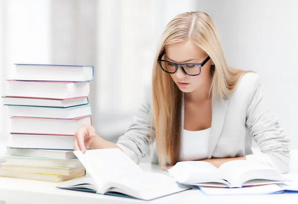
[[[145,86],[144,100],[131,126],[116,143],[136,163],[139,163],[141,157],[149,156],[150,144],[155,136],[154,128],[151,128],[151,92],[151,86]]]

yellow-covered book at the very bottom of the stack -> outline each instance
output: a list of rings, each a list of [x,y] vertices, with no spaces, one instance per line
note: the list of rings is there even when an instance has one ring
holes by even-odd
[[[38,174],[38,173],[30,173],[30,172],[0,170],[0,177],[29,179],[29,180],[47,181],[47,182],[56,182],[56,183],[82,177],[85,174],[86,174],[85,170],[82,170],[70,175]]]

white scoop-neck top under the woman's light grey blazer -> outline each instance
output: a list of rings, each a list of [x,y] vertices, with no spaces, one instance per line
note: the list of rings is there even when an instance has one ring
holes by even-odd
[[[207,159],[211,128],[202,131],[183,130],[180,161]]]

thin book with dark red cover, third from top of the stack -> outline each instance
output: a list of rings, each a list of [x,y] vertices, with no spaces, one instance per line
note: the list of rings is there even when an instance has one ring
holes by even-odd
[[[3,97],[4,105],[15,106],[40,106],[40,107],[72,107],[88,104],[87,97],[79,97],[72,99],[45,99],[45,98],[24,98],[24,97]]]

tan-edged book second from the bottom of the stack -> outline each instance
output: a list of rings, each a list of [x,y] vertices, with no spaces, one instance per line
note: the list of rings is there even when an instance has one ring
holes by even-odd
[[[15,164],[1,164],[3,171],[18,171],[36,174],[55,174],[55,175],[70,175],[76,172],[85,170],[83,165],[77,167],[55,167],[55,166],[29,166],[29,165],[15,165]]]

